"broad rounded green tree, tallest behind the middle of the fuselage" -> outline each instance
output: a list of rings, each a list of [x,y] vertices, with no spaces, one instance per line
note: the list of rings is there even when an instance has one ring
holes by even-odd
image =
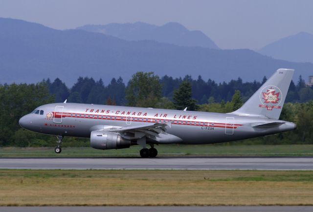
[[[162,86],[153,72],[137,72],[126,88],[129,106],[155,107],[161,98]]]

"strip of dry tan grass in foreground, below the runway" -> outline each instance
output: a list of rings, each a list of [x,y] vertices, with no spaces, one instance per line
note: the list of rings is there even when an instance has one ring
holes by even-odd
[[[313,205],[313,171],[0,170],[0,205]]]

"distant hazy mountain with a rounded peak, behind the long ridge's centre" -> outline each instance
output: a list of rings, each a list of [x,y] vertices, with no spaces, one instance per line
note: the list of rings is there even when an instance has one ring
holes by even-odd
[[[109,23],[106,25],[84,25],[76,29],[99,32],[127,41],[151,40],[180,46],[219,47],[201,31],[189,31],[177,22],[156,26],[143,22]]]

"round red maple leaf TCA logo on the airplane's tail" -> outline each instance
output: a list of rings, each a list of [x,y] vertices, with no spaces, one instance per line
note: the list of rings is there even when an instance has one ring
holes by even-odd
[[[268,85],[262,89],[260,101],[261,105],[259,105],[259,107],[265,107],[268,110],[280,109],[281,106],[279,106],[279,104],[282,101],[282,92],[278,87]]]

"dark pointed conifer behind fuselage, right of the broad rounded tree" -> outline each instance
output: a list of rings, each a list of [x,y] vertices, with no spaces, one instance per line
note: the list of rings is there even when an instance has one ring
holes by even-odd
[[[188,110],[197,110],[196,100],[192,99],[192,88],[188,81],[183,81],[179,88],[174,91],[174,105],[176,109],[182,110],[187,107]]]

